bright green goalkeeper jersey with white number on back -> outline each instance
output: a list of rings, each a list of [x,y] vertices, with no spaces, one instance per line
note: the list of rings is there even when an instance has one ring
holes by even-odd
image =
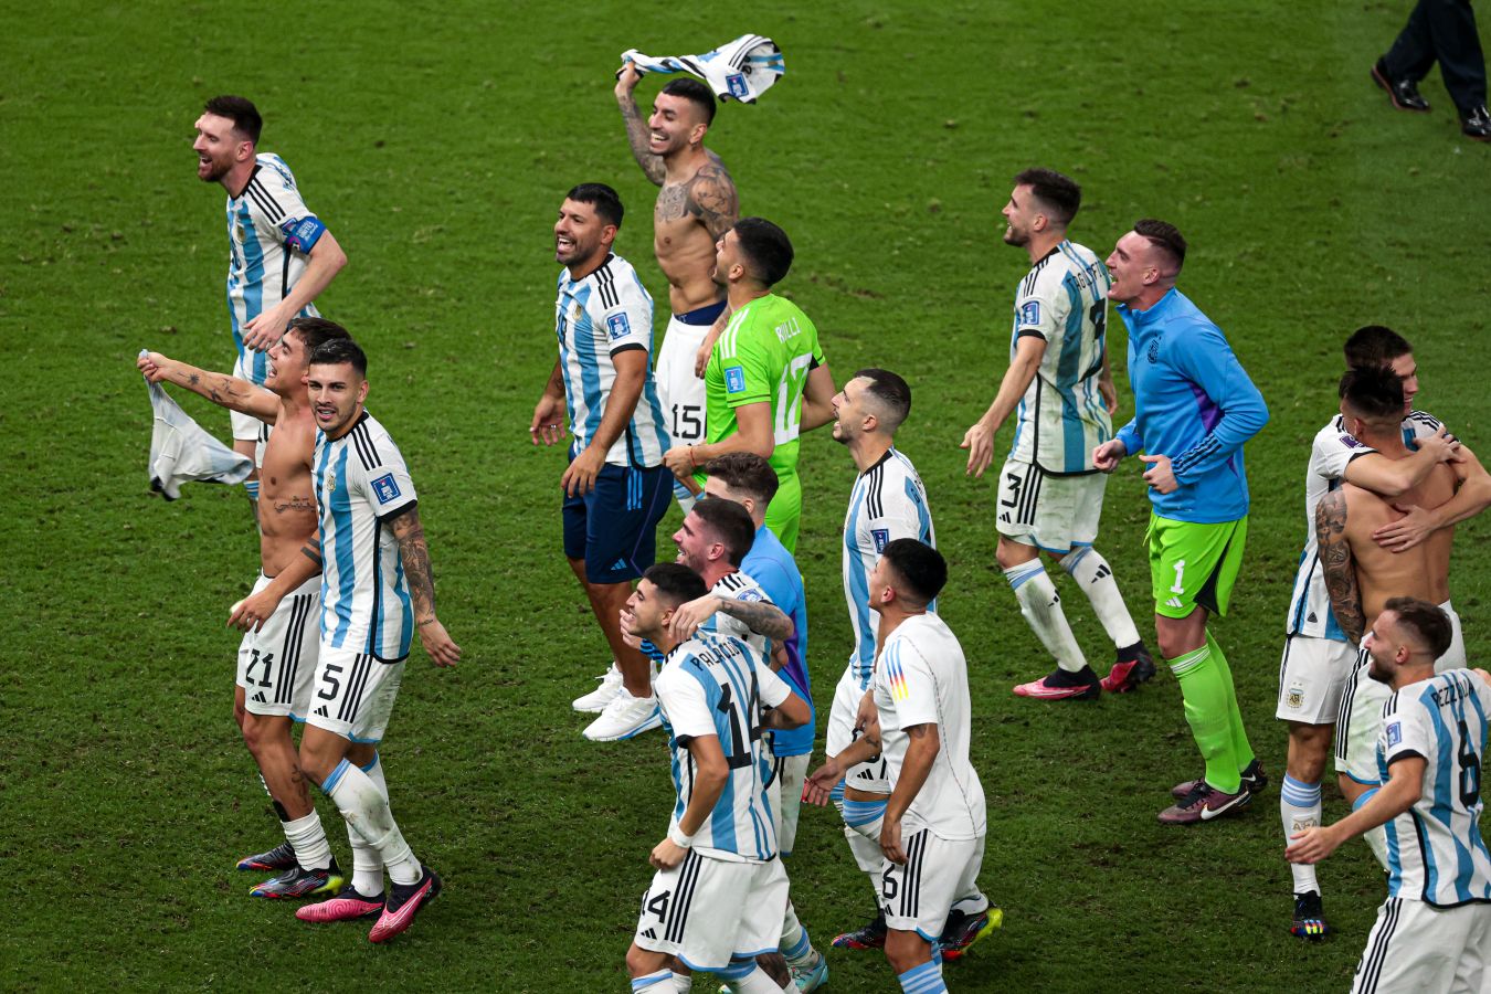
[[[775,294],[757,297],[731,314],[704,371],[708,441],[738,429],[735,408],[771,404],[771,468],[798,474],[798,432],[808,371],[823,364],[819,329],[796,304]]]

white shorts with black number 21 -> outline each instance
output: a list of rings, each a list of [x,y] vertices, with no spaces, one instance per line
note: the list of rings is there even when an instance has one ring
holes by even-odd
[[[267,587],[262,572],[253,593]],[[250,595],[252,596],[252,595]],[[249,714],[289,715],[306,720],[310,687],[321,648],[321,577],[312,577],[280,599],[258,632],[239,642],[239,678]]]

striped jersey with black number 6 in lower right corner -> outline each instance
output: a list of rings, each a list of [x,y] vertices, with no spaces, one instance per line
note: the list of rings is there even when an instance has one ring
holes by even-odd
[[[1491,852],[1481,835],[1491,686],[1451,669],[1403,687],[1382,705],[1378,773],[1409,756],[1424,760],[1424,793],[1387,823],[1388,896],[1436,908],[1491,903]]]

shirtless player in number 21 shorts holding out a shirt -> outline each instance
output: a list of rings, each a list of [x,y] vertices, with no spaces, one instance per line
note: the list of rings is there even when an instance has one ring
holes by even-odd
[[[289,735],[291,721],[306,718],[321,638],[321,571],[301,568],[301,550],[316,545],[318,522],[310,478],[316,422],[306,368],[316,346],[332,338],[347,338],[346,329],[321,317],[291,320],[289,331],[268,350],[264,386],[225,373],[204,373],[158,352],[139,361],[152,383],[183,386],[219,407],[274,426],[259,466],[259,578],[253,593],[234,605],[230,618],[230,624],[243,620],[249,629],[239,647],[233,715],[285,829],[283,845],[239,863],[243,870],[283,870],[249,891],[255,897],[334,893],[343,881]],[[274,598],[276,607],[262,607],[264,589],[282,574],[297,575],[300,583]]]

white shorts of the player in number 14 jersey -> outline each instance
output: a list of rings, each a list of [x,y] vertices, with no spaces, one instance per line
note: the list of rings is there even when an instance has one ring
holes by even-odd
[[[675,955],[690,970],[723,970],[731,958],[775,952],[786,914],[781,860],[729,863],[690,849],[653,876],[632,942]]]

